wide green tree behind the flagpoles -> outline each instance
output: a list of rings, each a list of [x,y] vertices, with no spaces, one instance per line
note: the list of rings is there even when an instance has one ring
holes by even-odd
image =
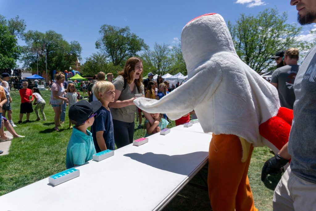
[[[47,53],[47,70],[68,70],[69,66],[75,66],[81,59],[82,48],[77,41],[70,43],[63,39],[61,34],[53,30],[46,33],[29,30],[24,34],[26,46],[23,46],[22,61],[24,67],[37,68],[37,55],[39,70],[45,71],[45,52]],[[45,46],[44,46],[45,41]]]

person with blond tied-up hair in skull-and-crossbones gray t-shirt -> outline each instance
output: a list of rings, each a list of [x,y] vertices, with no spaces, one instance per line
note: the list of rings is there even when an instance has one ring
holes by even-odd
[[[271,77],[271,84],[277,88],[279,93],[280,104],[282,107],[293,109],[295,101],[294,81],[299,69],[297,60],[299,58],[299,51],[297,48],[289,48],[284,53],[283,67],[277,68]]]

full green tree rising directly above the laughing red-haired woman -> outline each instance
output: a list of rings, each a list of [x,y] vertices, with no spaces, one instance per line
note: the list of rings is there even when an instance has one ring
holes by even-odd
[[[99,33],[101,38],[96,41],[95,47],[100,49],[114,66],[124,65],[123,61],[147,47],[144,40],[131,33],[128,26],[119,28],[102,25]]]

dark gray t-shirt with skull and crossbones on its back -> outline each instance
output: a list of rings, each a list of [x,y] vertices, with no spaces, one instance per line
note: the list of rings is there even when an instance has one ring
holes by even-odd
[[[295,101],[293,85],[298,69],[299,65],[285,65],[277,68],[271,76],[271,82],[277,84],[282,107],[293,109]]]

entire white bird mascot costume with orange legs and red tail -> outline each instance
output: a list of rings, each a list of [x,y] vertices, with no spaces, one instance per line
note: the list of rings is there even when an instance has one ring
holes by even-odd
[[[278,152],[288,141],[293,111],[280,108],[277,90],[238,57],[222,16],[188,22],[181,33],[188,78],[161,100],[134,103],[176,120],[193,109],[212,132],[208,186],[213,210],[257,210],[248,181],[253,147]]]

